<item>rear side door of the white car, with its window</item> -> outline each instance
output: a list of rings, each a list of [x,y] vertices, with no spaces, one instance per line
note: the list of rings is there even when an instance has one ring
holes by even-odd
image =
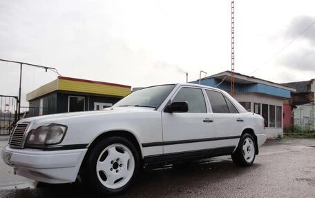
[[[244,116],[236,106],[217,90],[205,90],[211,104],[214,125],[214,146],[225,148],[236,146],[244,128]]]

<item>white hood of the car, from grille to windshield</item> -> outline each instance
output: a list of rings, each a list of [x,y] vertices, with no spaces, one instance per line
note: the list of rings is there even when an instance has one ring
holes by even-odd
[[[94,117],[103,115],[113,114],[124,114],[130,112],[152,112],[154,108],[143,108],[143,107],[117,107],[117,108],[106,108],[104,110],[93,110],[93,111],[82,111],[82,112],[65,112],[53,115],[43,115],[37,117],[30,117],[22,119],[21,122],[32,122],[32,123],[50,123],[53,120],[76,118],[76,117]]]

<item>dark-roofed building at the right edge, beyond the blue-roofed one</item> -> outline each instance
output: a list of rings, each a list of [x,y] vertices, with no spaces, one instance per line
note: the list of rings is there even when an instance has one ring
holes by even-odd
[[[283,83],[285,86],[296,88],[289,100],[293,107],[294,124],[310,126],[315,130],[315,79]]]

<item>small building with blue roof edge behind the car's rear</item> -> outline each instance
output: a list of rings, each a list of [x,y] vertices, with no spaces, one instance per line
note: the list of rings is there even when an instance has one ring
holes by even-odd
[[[283,135],[283,99],[291,97],[295,88],[235,73],[234,98],[249,112],[265,119],[267,137]],[[192,83],[199,83],[193,81]],[[231,72],[220,72],[201,79],[206,86],[220,88],[227,92],[231,89]]]

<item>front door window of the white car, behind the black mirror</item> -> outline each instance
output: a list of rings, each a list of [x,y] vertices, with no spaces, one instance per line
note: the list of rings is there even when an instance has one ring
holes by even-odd
[[[187,101],[188,112],[207,112],[202,90],[198,88],[181,88],[174,97],[175,101]]]

